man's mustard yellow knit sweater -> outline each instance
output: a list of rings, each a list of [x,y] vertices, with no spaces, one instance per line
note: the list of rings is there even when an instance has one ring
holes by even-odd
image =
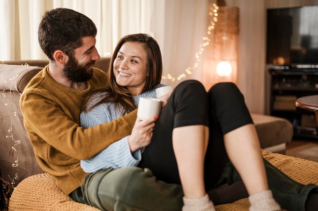
[[[79,126],[85,96],[105,87],[107,77],[94,68],[93,77],[86,83],[88,88],[77,90],[57,83],[46,66],[21,95],[24,127],[37,161],[67,195],[80,187],[86,176],[80,160],[91,158],[133,129],[137,110],[109,123],[87,129]]]

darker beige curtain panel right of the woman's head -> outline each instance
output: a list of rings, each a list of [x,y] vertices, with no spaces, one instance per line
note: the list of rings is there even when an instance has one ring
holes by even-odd
[[[163,83],[175,86],[188,79],[201,81],[203,38],[207,33],[206,0],[166,1],[163,40]],[[160,18],[157,16],[156,18]],[[154,29],[155,35],[160,31]]]

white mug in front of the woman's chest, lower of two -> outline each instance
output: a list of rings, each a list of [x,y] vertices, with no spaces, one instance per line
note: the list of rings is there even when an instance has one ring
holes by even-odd
[[[148,119],[160,114],[162,101],[151,97],[140,97],[137,116],[141,120]]]

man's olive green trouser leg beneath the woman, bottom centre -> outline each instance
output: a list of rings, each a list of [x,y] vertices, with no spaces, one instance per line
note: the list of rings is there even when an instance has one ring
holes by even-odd
[[[150,169],[107,168],[86,176],[81,189],[70,194],[78,202],[101,210],[181,210],[180,185],[156,180]]]

